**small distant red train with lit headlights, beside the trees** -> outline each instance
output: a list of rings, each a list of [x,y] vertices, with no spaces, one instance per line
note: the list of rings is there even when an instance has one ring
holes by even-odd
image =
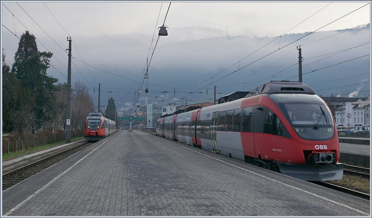
[[[116,132],[116,122],[102,115],[89,113],[85,119],[84,138],[87,141],[99,141]]]

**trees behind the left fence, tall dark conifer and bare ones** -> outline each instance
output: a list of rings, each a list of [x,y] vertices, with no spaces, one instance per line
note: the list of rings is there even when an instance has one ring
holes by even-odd
[[[5,62],[2,50],[3,132],[64,129],[67,83],[47,75],[52,52],[38,51],[36,38],[26,31],[20,37],[14,63]],[[84,129],[89,112],[96,111],[89,87],[80,81],[71,84],[71,129]]]

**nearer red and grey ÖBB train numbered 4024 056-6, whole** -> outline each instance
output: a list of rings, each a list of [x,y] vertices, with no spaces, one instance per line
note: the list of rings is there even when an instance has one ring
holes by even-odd
[[[237,100],[179,110],[157,120],[156,134],[302,180],[343,175],[330,109],[300,82],[270,81]]]

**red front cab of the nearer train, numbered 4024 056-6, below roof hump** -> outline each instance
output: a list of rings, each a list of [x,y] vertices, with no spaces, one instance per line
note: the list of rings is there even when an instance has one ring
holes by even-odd
[[[320,97],[302,93],[263,94],[253,113],[251,125],[257,158],[274,160],[280,172],[302,180],[342,179],[344,164],[337,163],[340,157],[337,129]],[[243,138],[242,134],[242,141]]]

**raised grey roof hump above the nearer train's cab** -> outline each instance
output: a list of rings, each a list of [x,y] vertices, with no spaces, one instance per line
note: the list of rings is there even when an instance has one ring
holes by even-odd
[[[290,81],[270,81],[253,89],[246,97],[257,94],[273,94],[273,93],[310,93],[315,94],[315,91],[310,86],[301,82]]]

